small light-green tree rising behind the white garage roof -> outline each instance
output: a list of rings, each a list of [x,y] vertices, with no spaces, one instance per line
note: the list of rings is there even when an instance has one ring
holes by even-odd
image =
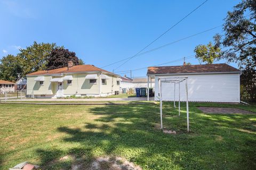
[[[207,45],[196,46],[194,52],[196,53],[196,58],[199,64],[206,62],[207,64],[212,64],[214,60],[220,57],[221,49],[218,44],[212,44],[211,42]]]

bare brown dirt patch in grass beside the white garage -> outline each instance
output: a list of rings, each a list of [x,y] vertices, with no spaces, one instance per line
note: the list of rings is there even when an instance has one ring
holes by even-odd
[[[245,111],[238,108],[226,108],[226,107],[197,107],[204,113],[214,114],[256,114],[253,112]]]

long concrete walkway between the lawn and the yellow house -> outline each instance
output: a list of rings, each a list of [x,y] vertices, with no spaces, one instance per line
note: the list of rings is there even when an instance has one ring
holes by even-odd
[[[146,101],[147,97],[127,97],[127,98],[81,98],[81,99],[8,99],[7,101]],[[154,97],[149,98],[150,101],[154,101]]]

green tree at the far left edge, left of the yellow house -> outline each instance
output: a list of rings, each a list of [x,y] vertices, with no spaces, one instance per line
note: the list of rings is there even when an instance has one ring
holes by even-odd
[[[23,60],[19,56],[7,55],[0,60],[0,79],[15,82],[23,73]]]

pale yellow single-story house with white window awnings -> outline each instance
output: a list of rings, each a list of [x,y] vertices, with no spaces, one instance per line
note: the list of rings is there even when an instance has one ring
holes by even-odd
[[[119,75],[94,65],[74,65],[27,74],[27,95],[36,98],[107,96],[119,91]]]

